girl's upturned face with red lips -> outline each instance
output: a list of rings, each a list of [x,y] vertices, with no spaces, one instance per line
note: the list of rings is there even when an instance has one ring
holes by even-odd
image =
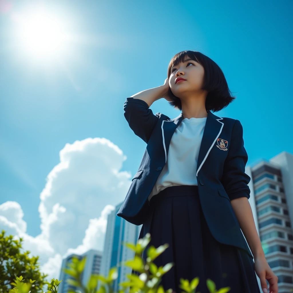
[[[185,81],[176,79],[182,77]],[[169,77],[169,86],[172,93],[178,98],[190,96],[195,92],[201,92],[204,79],[204,68],[198,62],[185,56],[183,62],[171,67],[171,75]]]

